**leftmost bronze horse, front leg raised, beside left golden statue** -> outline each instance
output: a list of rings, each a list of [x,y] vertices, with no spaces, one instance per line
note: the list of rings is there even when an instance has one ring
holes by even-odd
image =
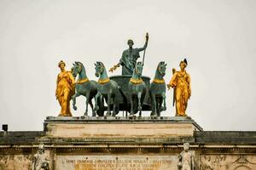
[[[97,94],[97,82],[94,80],[89,80],[86,76],[84,65],[81,62],[74,62],[72,69],[73,77],[77,77],[79,75],[79,79],[76,82],[76,94],[73,95],[73,109],[76,111],[76,98],[80,95],[83,95],[86,98],[86,109],[84,112],[84,116],[88,116],[88,104],[90,104],[90,108],[92,110],[92,116],[96,116],[96,112],[94,111],[92,99]]]

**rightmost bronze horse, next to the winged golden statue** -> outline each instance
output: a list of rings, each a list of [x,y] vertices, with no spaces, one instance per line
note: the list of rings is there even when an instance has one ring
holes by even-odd
[[[149,94],[152,103],[151,116],[160,116],[161,111],[166,111],[166,82],[164,80],[166,65],[165,61],[161,61],[159,65],[157,65],[154,80],[150,84]],[[162,106],[163,103],[164,105]]]

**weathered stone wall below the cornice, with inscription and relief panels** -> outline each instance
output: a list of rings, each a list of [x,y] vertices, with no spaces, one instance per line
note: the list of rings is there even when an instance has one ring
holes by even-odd
[[[30,170],[36,147],[22,150],[23,146],[0,150],[0,170]],[[142,148],[83,147],[47,145],[51,170],[176,170],[178,154],[182,145],[156,148],[154,145]],[[26,153],[27,150],[32,152]],[[256,169],[256,148],[253,145],[191,145],[195,155],[196,170],[254,170]],[[22,154],[24,152],[24,154]]]

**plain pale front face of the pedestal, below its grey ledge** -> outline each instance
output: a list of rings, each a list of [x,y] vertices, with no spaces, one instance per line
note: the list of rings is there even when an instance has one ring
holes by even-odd
[[[193,136],[193,124],[49,124],[47,136],[55,138],[165,138]]]

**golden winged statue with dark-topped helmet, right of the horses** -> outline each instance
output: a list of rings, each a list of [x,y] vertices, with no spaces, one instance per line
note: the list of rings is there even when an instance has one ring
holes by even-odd
[[[179,64],[180,71],[172,69],[173,77],[167,85],[169,89],[170,87],[174,88],[173,102],[176,102],[176,116],[187,116],[185,111],[191,96],[190,77],[189,73],[185,71],[187,65],[187,59],[184,59]]]

